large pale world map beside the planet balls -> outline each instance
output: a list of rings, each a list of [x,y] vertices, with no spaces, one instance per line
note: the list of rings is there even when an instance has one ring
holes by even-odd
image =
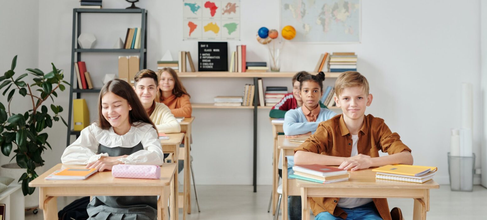
[[[360,42],[360,0],[281,0],[281,27],[297,42]]]

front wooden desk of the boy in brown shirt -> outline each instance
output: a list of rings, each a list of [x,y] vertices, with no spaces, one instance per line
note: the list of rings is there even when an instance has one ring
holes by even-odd
[[[308,197],[357,197],[357,198],[412,198],[414,199],[414,220],[426,220],[430,210],[430,189],[440,188],[434,180],[425,183],[407,183],[375,179],[373,168],[350,173],[349,181],[339,183],[313,183],[297,180],[301,188],[301,219],[309,220]]]

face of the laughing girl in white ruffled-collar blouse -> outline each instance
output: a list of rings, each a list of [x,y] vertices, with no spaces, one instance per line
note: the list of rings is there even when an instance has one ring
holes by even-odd
[[[113,92],[107,92],[101,98],[101,113],[113,129],[130,128],[129,111],[132,107],[126,99]]]

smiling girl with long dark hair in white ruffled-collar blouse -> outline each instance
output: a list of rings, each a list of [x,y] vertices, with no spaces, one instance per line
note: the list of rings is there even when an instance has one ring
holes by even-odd
[[[63,164],[86,165],[98,171],[113,165],[162,165],[157,131],[129,83],[114,79],[101,89],[98,121],[81,130],[61,157]],[[90,220],[157,217],[156,196],[95,196],[87,207]]]

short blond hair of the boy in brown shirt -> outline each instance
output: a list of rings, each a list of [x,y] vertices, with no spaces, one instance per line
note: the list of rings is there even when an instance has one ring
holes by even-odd
[[[351,87],[362,87],[366,95],[369,94],[369,81],[362,74],[356,71],[341,73],[335,82],[335,93],[339,96],[343,89]]]

